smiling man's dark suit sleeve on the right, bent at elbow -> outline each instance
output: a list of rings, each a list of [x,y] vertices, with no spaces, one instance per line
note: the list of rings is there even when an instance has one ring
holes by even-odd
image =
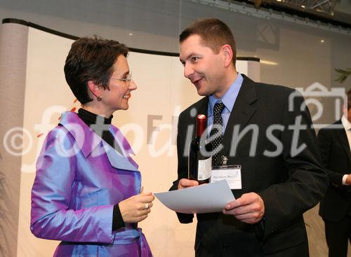
[[[300,111],[300,106],[305,104],[303,97],[298,95],[293,102],[289,99],[287,97],[282,117],[283,152],[280,157],[288,171],[287,179],[259,193],[265,203],[265,237],[282,230],[314,207],[329,186],[310,113],[307,107]],[[293,110],[289,109],[289,104],[293,104]]]

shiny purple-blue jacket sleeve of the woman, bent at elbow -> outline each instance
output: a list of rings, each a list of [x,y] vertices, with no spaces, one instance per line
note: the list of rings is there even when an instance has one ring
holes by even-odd
[[[76,200],[76,155],[80,149],[64,127],[46,137],[32,188],[30,229],[36,237],[68,242],[111,243],[113,205],[69,209]]]

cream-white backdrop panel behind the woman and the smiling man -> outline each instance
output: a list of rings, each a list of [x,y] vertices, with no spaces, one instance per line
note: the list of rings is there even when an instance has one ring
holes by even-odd
[[[65,82],[63,66],[72,40],[29,28],[25,89],[25,137],[20,184],[18,256],[52,256],[58,242],[37,239],[29,230],[30,190],[35,160],[49,130],[62,111],[77,111],[79,102]],[[114,113],[117,125],[135,151],[145,191],[168,190],[176,179],[176,127],[181,110],[199,99],[194,86],[183,77],[178,57],[130,53],[128,63],[138,89],[132,92],[128,111]],[[249,62],[237,69],[249,72]],[[259,69],[259,67],[258,67]],[[257,70],[258,71],[258,70]],[[257,80],[257,76],[256,76]],[[173,211],[155,200],[143,228],[154,256],[194,256],[196,223],[180,224]]]

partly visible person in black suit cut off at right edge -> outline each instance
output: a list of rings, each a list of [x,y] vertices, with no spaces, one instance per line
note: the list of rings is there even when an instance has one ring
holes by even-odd
[[[329,257],[346,257],[347,242],[351,240],[351,90],[347,91],[343,111],[340,120],[318,133],[322,161],[331,182],[319,206]]]

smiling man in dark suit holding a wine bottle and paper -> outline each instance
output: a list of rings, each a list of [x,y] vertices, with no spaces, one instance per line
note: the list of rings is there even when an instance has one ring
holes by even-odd
[[[194,113],[208,116],[213,165],[222,156],[227,165],[241,165],[236,200],[223,212],[197,214],[195,256],[308,256],[303,212],[319,202],[328,183],[310,114],[300,111],[303,97],[292,95],[295,90],[255,83],[237,73],[235,60],[234,37],[220,20],[200,20],[180,34],[184,76],[204,98],[180,113],[178,179],[171,190],[198,184],[187,179]],[[213,136],[218,125],[223,135]],[[178,218],[190,223],[193,215]]]

